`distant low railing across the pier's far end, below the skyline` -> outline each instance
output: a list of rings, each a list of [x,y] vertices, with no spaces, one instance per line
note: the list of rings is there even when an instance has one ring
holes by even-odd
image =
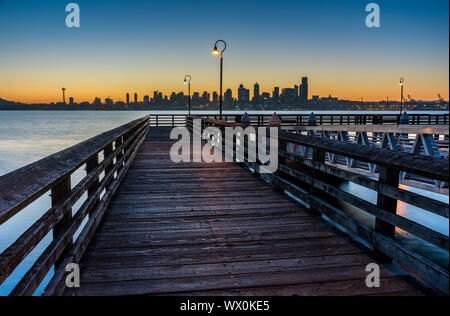
[[[204,119],[218,120],[218,114],[196,115]],[[283,127],[307,126],[310,114],[279,114]],[[315,114],[318,125],[397,125],[400,123],[399,114]],[[151,126],[185,126],[186,115],[158,114],[151,116]],[[222,120],[226,122],[240,122],[242,115],[224,114]],[[272,114],[250,114],[249,118],[254,126],[267,126]],[[409,112],[410,125],[448,125],[449,114],[416,114]]]

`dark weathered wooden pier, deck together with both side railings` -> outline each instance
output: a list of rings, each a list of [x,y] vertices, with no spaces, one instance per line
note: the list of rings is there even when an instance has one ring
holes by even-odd
[[[187,122],[191,129],[192,119]],[[202,119],[202,126],[224,129],[239,124]],[[53,230],[52,244],[11,295],[33,294],[52,267],[55,274],[44,295],[448,294],[448,270],[396,243],[393,229],[404,229],[447,251],[448,237],[395,215],[395,210],[393,214],[392,201],[407,200],[446,218],[448,205],[408,193],[386,175],[406,168],[448,182],[448,164],[439,170],[444,166],[440,160],[425,157],[436,164],[420,171],[423,160],[403,166],[407,154],[397,153],[398,162],[387,168],[382,152],[365,152],[382,168],[376,181],[325,164],[325,150],[364,161],[368,158],[362,151],[367,149],[345,148],[342,143],[330,148],[331,140],[280,131],[282,149],[288,141],[308,145],[313,159],[281,150],[279,172],[263,175],[247,160],[174,163],[169,151],[175,141],[169,134],[169,128],[150,128],[149,118],[143,118],[0,177],[0,224],[48,190],[53,201],[52,209],[0,254],[2,283]],[[299,168],[301,163],[309,171]],[[47,174],[49,165],[53,174]],[[70,175],[83,165],[87,176],[71,188]],[[31,171],[35,178],[27,179]],[[377,190],[378,205],[333,190],[324,182],[326,173],[334,180],[340,177]],[[305,183],[311,188],[308,192]],[[88,198],[80,209],[69,213],[86,191]],[[376,227],[337,210],[329,204],[330,196],[373,214]],[[299,197],[309,207],[302,206]],[[73,238],[86,218],[81,234]],[[346,234],[334,225],[345,227]],[[69,263],[80,264],[79,288],[65,287]],[[370,263],[381,266],[378,288],[365,283]]]

